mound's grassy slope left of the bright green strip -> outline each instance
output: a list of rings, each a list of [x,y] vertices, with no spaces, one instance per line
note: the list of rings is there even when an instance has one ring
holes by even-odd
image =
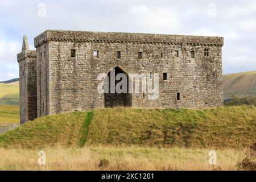
[[[85,112],[56,114],[27,122],[1,135],[0,147],[77,146],[86,115]]]

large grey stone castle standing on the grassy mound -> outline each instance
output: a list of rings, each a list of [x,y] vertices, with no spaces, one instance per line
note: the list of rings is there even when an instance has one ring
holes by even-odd
[[[47,30],[34,44],[32,51],[24,36],[17,55],[20,123],[113,106],[202,109],[223,103],[220,37]],[[98,75],[113,69],[158,73],[158,99],[99,93]]]

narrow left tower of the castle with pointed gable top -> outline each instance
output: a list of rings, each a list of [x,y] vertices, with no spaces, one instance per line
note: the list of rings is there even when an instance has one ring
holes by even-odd
[[[30,50],[27,37],[23,37],[22,52],[18,53],[20,124],[37,117],[36,104],[36,51]]]

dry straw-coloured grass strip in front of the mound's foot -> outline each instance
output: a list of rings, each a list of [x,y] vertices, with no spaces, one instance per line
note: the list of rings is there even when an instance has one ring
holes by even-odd
[[[39,150],[0,148],[0,170],[236,170],[243,151],[217,150],[217,166],[208,163],[207,149],[101,147],[42,148],[46,166],[38,164]],[[40,149],[41,150],[41,149]]]

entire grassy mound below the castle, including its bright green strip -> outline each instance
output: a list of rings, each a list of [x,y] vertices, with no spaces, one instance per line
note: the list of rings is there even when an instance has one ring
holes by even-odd
[[[256,107],[96,109],[49,115],[0,136],[0,147],[179,146],[243,148],[256,138]]]

